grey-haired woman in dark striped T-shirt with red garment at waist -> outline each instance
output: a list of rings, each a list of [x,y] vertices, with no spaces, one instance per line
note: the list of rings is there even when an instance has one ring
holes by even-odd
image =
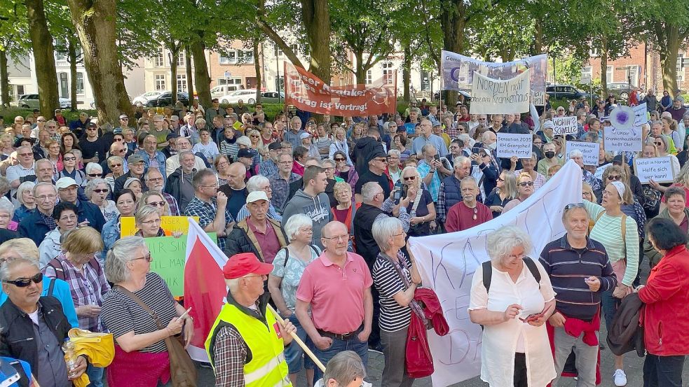
[[[193,321],[180,318],[184,307],[175,302],[161,276],[151,272],[151,253],[142,237],[115,242],[105,260],[105,276],[114,283],[102,304],[101,318],[115,338],[115,357],[108,367],[109,386],[165,386],[170,381],[170,358],[165,338],[184,330],[191,342]],[[158,326],[149,307],[161,321]]]

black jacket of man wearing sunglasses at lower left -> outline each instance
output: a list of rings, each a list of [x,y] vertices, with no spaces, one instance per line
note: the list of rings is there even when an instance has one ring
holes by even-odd
[[[62,304],[53,296],[39,298],[41,317],[62,344],[69,332],[69,322],[62,312]],[[11,300],[0,307],[0,356],[25,360],[32,370],[38,368],[39,349],[34,333],[34,323]]]

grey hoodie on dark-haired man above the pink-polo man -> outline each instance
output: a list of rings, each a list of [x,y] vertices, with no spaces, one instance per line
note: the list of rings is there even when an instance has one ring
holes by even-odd
[[[303,213],[313,220],[313,239],[312,243],[323,248],[320,243],[320,232],[327,223],[332,220],[332,211],[330,210],[330,200],[325,192],[321,192],[318,196],[313,197],[308,195],[303,190],[298,190],[292,199],[285,205],[282,211],[282,230],[285,230],[285,224],[289,217],[295,213]]]

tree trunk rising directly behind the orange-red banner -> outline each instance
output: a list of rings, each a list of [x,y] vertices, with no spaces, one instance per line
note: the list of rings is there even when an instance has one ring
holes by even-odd
[[[308,71],[330,84],[330,10],[328,0],[301,0],[301,22],[311,50]]]

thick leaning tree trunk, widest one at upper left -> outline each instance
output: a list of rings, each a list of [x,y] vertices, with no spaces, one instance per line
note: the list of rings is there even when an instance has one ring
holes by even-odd
[[[68,0],[68,3],[76,34],[81,41],[88,80],[98,101],[99,122],[117,125],[120,114],[133,117],[134,109],[124,85],[115,45],[116,2]]]

